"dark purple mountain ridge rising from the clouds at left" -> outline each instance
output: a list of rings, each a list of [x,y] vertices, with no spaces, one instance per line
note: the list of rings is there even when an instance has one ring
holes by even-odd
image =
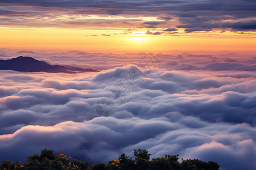
[[[93,69],[81,69],[73,66],[49,65],[32,57],[16,57],[13,59],[0,60],[0,70],[14,70],[24,72],[47,72],[47,73],[82,73],[97,72]]]

